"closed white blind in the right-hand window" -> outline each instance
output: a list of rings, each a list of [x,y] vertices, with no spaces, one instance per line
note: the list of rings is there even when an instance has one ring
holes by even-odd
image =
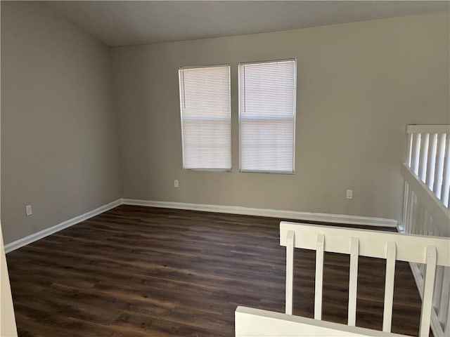
[[[239,65],[240,171],[293,173],[295,60]]]

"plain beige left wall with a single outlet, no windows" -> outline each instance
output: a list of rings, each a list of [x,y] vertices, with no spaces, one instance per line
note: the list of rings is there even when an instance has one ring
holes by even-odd
[[[1,1],[5,244],[121,197],[117,160],[110,48],[43,4]]]

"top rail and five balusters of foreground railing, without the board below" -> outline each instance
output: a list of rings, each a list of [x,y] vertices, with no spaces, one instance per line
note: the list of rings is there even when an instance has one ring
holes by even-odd
[[[420,337],[428,337],[433,315],[433,290],[435,289],[436,267],[450,265],[450,242],[441,237],[425,237],[373,230],[356,230],[350,228],[307,225],[304,223],[280,223],[280,244],[286,247],[286,287],[293,284],[293,249],[312,249],[320,256],[323,251],[343,253],[350,256],[349,269],[349,305],[347,325],[355,326],[356,292],[358,275],[358,257],[385,258],[385,310],[383,315],[383,331],[389,333],[392,322],[392,300],[394,294],[395,262],[406,261],[425,265],[425,277],[422,287],[422,311],[420,314]],[[321,260],[320,258],[318,260]],[[316,270],[316,284],[320,282],[321,270]],[[318,282],[319,279],[319,282]],[[448,284],[447,284],[448,287]],[[316,289],[317,290],[317,289]],[[436,289],[437,290],[437,289]],[[442,291],[442,289],[439,289]],[[316,292],[314,301],[314,319],[321,319],[321,293]],[[290,296],[290,297],[288,297]],[[292,312],[293,297],[286,292],[285,313]],[[449,336],[449,326],[435,333],[435,337]]]

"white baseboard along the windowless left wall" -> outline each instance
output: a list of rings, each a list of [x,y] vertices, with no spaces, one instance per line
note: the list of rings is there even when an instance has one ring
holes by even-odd
[[[54,225],[52,227],[46,228],[45,230],[41,230],[37,233],[30,234],[27,237],[23,237],[22,239],[13,241],[5,245],[5,253],[15,251],[15,249],[19,249],[20,247],[26,246],[27,244],[31,244],[32,242],[35,242],[39,239],[48,237],[49,235],[59,232],[60,230],[64,230],[67,227],[76,225],[77,223],[81,223],[82,221],[92,218],[94,216],[98,216],[98,214],[101,214],[105,211],[109,211],[110,209],[114,209],[115,207],[122,205],[122,203],[123,203],[122,199],[117,199],[113,202],[110,202],[109,204],[100,206],[97,209],[84,213],[80,216],[75,216],[75,218],[66,220],[63,223],[58,223],[58,225]]]

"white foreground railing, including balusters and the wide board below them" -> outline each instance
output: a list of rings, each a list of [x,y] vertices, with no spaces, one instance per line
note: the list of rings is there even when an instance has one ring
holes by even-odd
[[[437,267],[450,266],[450,242],[443,237],[426,237],[375,230],[358,230],[306,223],[280,223],[280,244],[286,247],[285,313],[238,307],[236,310],[236,337],[249,336],[400,336],[391,332],[395,262],[407,261],[426,265],[423,302],[420,312],[419,336],[428,337],[432,315],[432,294],[436,284]],[[316,280],[314,319],[293,315],[294,250],[316,251]],[[350,256],[348,322],[323,322],[323,253],[341,253]],[[358,258],[368,256],[386,260],[383,331],[355,326]],[[300,277],[302,277],[300,270]],[[380,286],[383,286],[381,284]],[[450,331],[446,331],[449,333]],[[404,335],[401,335],[404,336]],[[436,335],[437,336],[444,336]],[[447,336],[447,335],[445,335]]]

